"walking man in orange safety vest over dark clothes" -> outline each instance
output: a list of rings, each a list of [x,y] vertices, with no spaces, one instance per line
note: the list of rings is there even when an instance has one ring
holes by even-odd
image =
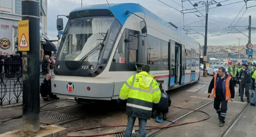
[[[233,80],[228,74],[225,74],[226,69],[220,67],[218,74],[216,74],[208,88],[208,97],[211,95],[213,90],[214,108],[219,115],[219,126],[223,127],[227,114],[227,101],[234,100],[235,88]],[[221,107],[220,107],[221,104]]]

